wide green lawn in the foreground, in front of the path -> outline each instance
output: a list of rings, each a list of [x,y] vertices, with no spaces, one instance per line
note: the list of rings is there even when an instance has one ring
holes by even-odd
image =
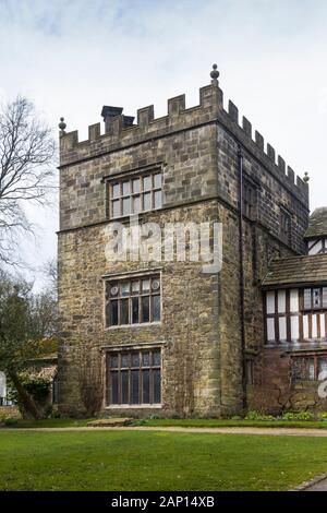
[[[0,431],[0,490],[288,490],[327,472],[327,438]]]

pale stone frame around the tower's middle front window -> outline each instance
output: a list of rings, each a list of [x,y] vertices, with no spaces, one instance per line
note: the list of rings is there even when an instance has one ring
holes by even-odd
[[[109,326],[107,325],[107,313],[106,313],[106,282],[109,281],[125,281],[125,279],[133,279],[133,278],[143,278],[147,276],[159,275],[160,279],[160,321],[152,321],[152,322],[141,322],[137,324],[119,324]],[[101,276],[102,285],[104,285],[104,297],[102,297],[102,319],[104,319],[104,330],[105,331],[114,331],[114,330],[135,330],[135,329],[143,329],[146,326],[160,326],[162,319],[164,319],[164,309],[162,309],[162,267],[154,267],[154,269],[146,269],[146,270],[137,270],[137,271],[130,271],[130,272],[121,272],[121,273],[106,273]]]

